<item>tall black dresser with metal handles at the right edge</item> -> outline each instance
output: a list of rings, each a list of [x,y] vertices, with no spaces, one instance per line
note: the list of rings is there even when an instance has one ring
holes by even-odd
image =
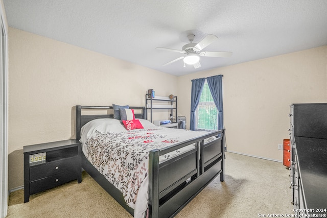
[[[293,104],[290,117],[294,212],[327,214],[327,104]]]

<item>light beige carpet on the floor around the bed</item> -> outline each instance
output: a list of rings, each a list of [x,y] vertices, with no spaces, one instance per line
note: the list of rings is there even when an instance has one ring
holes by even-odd
[[[218,176],[175,217],[260,217],[293,214],[289,171],[280,162],[226,153],[225,181]],[[10,193],[7,217],[132,217],[86,172],[30,197]],[[261,216],[263,217],[263,216]],[[269,217],[269,216],[268,216]]]

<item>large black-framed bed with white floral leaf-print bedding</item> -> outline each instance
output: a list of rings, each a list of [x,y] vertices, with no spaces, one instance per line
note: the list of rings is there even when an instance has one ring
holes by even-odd
[[[218,175],[224,181],[224,130],[156,127],[144,107],[129,107],[142,128],[123,130],[112,109],[76,106],[82,168],[134,217],[173,217]]]

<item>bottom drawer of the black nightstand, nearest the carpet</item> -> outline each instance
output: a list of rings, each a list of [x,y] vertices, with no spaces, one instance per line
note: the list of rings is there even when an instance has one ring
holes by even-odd
[[[77,174],[75,171],[66,171],[54,176],[46,177],[44,179],[39,179],[30,183],[30,195],[43,191],[49,188],[62,185],[66,182],[75,180]]]

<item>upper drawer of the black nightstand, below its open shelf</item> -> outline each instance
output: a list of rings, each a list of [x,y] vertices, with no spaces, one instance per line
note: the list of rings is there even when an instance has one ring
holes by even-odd
[[[32,166],[30,168],[30,181],[42,179],[65,171],[76,171],[77,161],[78,158],[76,156]]]

